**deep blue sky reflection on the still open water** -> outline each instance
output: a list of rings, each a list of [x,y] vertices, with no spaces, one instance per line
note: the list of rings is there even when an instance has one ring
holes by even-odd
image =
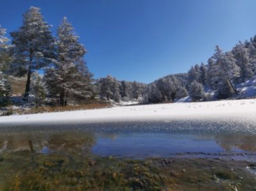
[[[97,134],[97,144],[92,152],[108,156],[164,156],[177,153],[224,153],[213,137],[200,139],[189,134],[124,133],[113,140]],[[242,152],[233,149],[231,152]]]

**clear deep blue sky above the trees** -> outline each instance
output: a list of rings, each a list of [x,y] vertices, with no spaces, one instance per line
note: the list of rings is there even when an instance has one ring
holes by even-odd
[[[0,24],[17,30],[30,6],[53,31],[68,17],[95,78],[149,83],[256,34],[256,0],[1,0]]]

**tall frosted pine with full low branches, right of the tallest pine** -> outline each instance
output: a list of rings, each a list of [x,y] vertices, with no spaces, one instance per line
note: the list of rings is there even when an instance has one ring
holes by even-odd
[[[68,99],[92,96],[92,73],[83,59],[87,51],[73,31],[72,24],[63,17],[57,31],[56,58],[45,74],[51,96],[59,98],[62,106]]]

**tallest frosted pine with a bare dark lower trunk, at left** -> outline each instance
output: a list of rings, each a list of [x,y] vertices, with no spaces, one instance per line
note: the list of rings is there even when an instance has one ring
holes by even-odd
[[[13,37],[14,62],[11,71],[16,76],[27,74],[24,100],[28,99],[30,78],[34,71],[51,62],[53,54],[53,37],[50,26],[38,7],[30,7],[23,15],[23,25],[18,31],[11,32]]]

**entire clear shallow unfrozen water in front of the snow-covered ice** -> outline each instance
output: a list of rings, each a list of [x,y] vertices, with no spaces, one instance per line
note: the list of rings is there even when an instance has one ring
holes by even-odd
[[[158,125],[1,127],[0,190],[256,188],[255,134]]]

